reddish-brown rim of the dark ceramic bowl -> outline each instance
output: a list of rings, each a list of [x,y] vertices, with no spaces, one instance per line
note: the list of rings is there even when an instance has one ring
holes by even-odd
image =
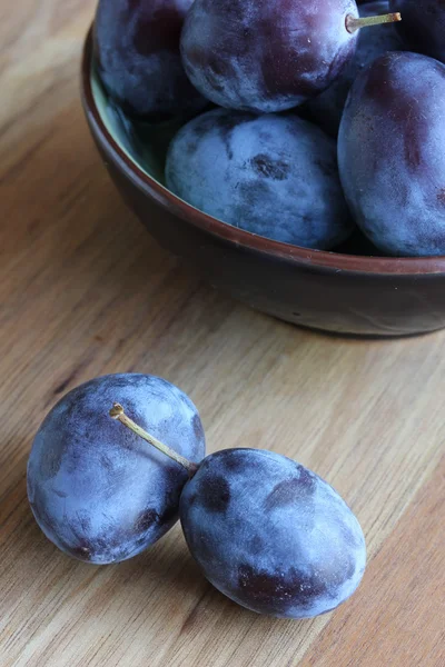
[[[93,131],[96,138],[100,140],[100,143],[107,150],[107,153],[109,153],[120,170],[125,172],[127,178],[144,190],[151,199],[154,198],[154,192],[157,195],[156,202],[158,205],[161,205],[165,208],[168,207],[170,212],[171,208],[175,208],[175,212],[195,227],[198,227],[212,236],[217,236],[230,245],[260,252],[274,259],[284,259],[298,265],[305,263],[314,268],[335,269],[336,272],[350,271],[355,273],[394,276],[445,273],[445,256],[370,257],[344,255],[342,252],[313,250],[300,246],[293,246],[222,222],[174,195],[126,155],[112,135],[108,131],[101,118],[91,84],[91,64],[93,57],[92,31],[93,22],[85,38],[81,60],[81,98],[91,131]]]

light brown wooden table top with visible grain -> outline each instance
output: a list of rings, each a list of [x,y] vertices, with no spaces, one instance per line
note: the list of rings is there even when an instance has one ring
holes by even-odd
[[[444,667],[445,334],[298,330],[160,250],[82,118],[93,6],[3,2],[0,21],[1,666]],[[131,370],[192,397],[210,450],[271,448],[340,491],[369,550],[348,603],[310,621],[245,611],[200,576],[179,526],[117,566],[57,551],[26,496],[33,434],[68,389]]]

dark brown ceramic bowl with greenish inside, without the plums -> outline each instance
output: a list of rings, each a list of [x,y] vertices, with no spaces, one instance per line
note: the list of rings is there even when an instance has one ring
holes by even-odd
[[[403,336],[445,327],[445,257],[308,250],[207,216],[162,185],[175,128],[146,129],[141,141],[107,100],[92,67],[91,32],[81,84],[92,137],[123,199],[162,247],[210,285],[251,308],[325,331]]]

